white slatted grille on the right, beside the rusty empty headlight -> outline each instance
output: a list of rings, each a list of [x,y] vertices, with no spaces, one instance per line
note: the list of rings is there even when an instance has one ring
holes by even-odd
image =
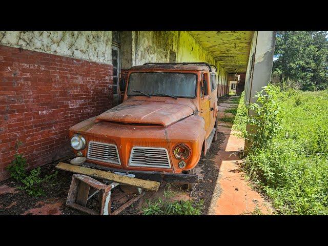
[[[133,147],[129,166],[171,168],[168,151],[165,148]]]

